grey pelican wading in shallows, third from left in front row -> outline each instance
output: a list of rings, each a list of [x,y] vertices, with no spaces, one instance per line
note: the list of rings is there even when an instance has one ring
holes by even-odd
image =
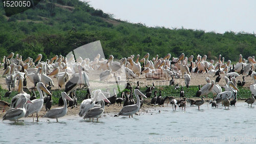
[[[68,111],[66,99],[71,100],[71,101],[73,101],[73,100],[67,95],[66,92],[62,92],[61,96],[62,96],[62,99],[64,101],[64,107],[58,107],[58,108],[50,109],[46,113],[46,115],[42,118],[56,119],[56,121],[59,122],[58,118],[64,117],[66,115],[66,113]]]

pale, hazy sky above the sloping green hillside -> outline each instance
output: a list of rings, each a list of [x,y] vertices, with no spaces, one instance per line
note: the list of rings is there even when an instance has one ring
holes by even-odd
[[[89,0],[115,19],[146,26],[256,33],[255,0]],[[87,1],[88,2],[88,1]]]

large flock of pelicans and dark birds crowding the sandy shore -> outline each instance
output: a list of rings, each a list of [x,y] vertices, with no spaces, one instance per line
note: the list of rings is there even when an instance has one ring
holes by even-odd
[[[218,107],[219,103],[222,103],[226,108],[230,105],[235,105],[237,102],[237,93],[239,89],[236,85],[243,87],[245,84],[245,77],[251,76],[254,83],[250,85],[251,97],[245,100],[246,103],[252,106],[255,101],[256,95],[256,73],[255,73],[255,60],[254,56],[249,56],[247,60],[243,59],[240,54],[237,64],[231,65],[231,61],[228,60],[224,63],[224,57],[219,55],[218,61],[208,60],[207,56],[198,55],[194,61],[194,56],[185,57],[184,53],[181,53],[179,57],[173,57],[170,60],[171,54],[167,54],[165,57],[153,57],[149,60],[150,54],[147,53],[140,61],[138,54],[136,59],[135,55],[130,57],[123,57],[121,60],[113,61],[114,56],[110,55],[109,59],[100,59],[100,54],[95,56],[93,61],[90,59],[82,59],[78,57],[75,60],[74,55],[70,57],[64,57],[62,55],[55,55],[51,60],[42,62],[42,54],[38,54],[35,61],[31,57],[23,60],[22,55],[11,52],[9,56],[4,56],[3,64],[4,73],[6,77],[6,84],[9,91],[5,94],[5,97],[10,97],[13,91],[16,91],[15,85],[18,85],[18,94],[11,99],[11,104],[0,101],[0,107],[10,107],[6,111],[3,121],[18,121],[20,118],[28,117],[32,115],[34,121],[34,114],[36,114],[36,121],[38,122],[38,112],[45,104],[47,113],[43,118],[56,119],[66,115],[68,107],[76,107],[76,89],[87,89],[87,94],[84,96],[84,100],[80,104],[80,110],[78,115],[83,119],[97,119],[104,112],[105,105],[118,105],[123,104],[122,109],[116,116],[129,116],[133,118],[133,115],[139,111],[143,105],[143,98],[150,98],[153,94],[151,102],[148,104],[164,105],[164,102],[170,103],[173,110],[177,109],[177,106],[184,111],[186,110],[187,102],[190,106],[197,105],[198,109],[204,104],[205,97],[212,92],[214,98],[209,101],[212,107]],[[135,60],[135,61],[134,61]],[[37,65],[35,63],[37,62]],[[142,63],[142,66],[141,66]],[[125,91],[120,92],[121,97],[117,97],[117,88],[113,89],[114,95],[110,95],[111,88],[107,88],[106,92],[100,89],[90,91],[90,80],[88,74],[90,72],[99,71],[99,81],[103,83],[109,83],[111,78],[115,78],[116,81],[121,80],[121,74],[124,74],[127,82],[125,82]],[[175,85],[176,78],[182,78],[185,82],[185,87],[189,88],[191,73],[211,73],[215,74],[216,80],[210,80],[206,78],[206,84],[196,92],[194,97],[201,100],[187,99],[180,85]],[[243,75],[243,81],[236,82],[236,78]],[[162,96],[161,90],[155,88],[154,82],[152,86],[146,85],[145,92],[140,91],[140,81],[137,81],[137,87],[133,90],[129,80],[133,78],[152,78],[152,79],[164,79],[168,80],[169,85],[175,85],[174,89],[180,90],[180,100],[172,96]],[[58,85],[54,85],[53,78],[57,79]],[[224,78],[226,81],[225,91],[218,84],[220,79]],[[109,81],[108,81],[109,80]],[[33,87],[28,89],[27,83],[32,82]],[[59,106],[51,109],[52,106],[52,94],[50,92],[52,87],[58,87],[58,89],[64,89],[59,98]],[[128,91],[127,91],[128,90]],[[36,98],[35,91],[38,91],[39,98]],[[136,97],[136,101],[133,99]],[[1,97],[0,97],[1,98]]]

